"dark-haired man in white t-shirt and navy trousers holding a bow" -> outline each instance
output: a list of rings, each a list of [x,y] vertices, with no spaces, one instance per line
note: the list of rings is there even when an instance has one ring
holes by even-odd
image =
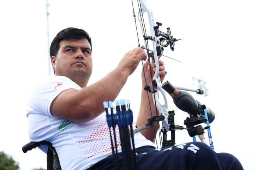
[[[112,169],[110,137],[102,102],[115,100],[138,63],[146,60],[146,53],[139,47],[128,51],[112,72],[90,86],[87,83],[92,73],[92,43],[84,30],[66,28],[60,31],[52,41],[50,57],[55,76],[46,76],[38,83],[27,107],[30,140],[52,143],[64,170]],[[159,63],[159,76],[163,80],[164,63]],[[148,65],[146,61],[145,78],[142,74],[146,82],[142,81],[142,88],[152,84]],[[152,96],[150,104],[153,106]],[[147,92],[142,90],[137,127],[148,123],[150,116]],[[203,143],[155,150],[154,136],[153,129],[134,135],[139,169],[166,166],[172,169],[242,168],[234,156],[216,154]],[[46,148],[41,149],[46,152]],[[119,145],[121,152],[120,149]],[[119,158],[122,160],[122,152]],[[122,161],[120,168],[124,169]]]

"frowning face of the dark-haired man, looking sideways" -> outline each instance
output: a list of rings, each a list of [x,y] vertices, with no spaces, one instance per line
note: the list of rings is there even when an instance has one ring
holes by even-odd
[[[92,74],[92,51],[87,39],[62,40],[57,56],[52,56],[52,68],[55,75],[66,76],[73,80],[74,76],[89,79]]]

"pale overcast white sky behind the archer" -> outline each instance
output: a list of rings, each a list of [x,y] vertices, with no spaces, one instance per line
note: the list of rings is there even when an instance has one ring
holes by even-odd
[[[138,46],[130,0],[48,3],[50,41],[66,27],[90,33],[94,68],[89,84],[104,77],[124,53]],[[244,169],[256,169],[255,2],[149,0],[148,7],[154,20],[163,23],[162,31],[170,27],[174,37],[183,38],[176,42],[174,51],[164,51],[183,62],[162,57],[168,70],[166,80],[186,88],[194,88],[192,77],[205,81],[207,97],[191,94],[216,113],[211,124],[216,152],[234,154]],[[34,149],[24,154],[21,150],[29,142],[25,111],[28,93],[36,80],[48,75],[46,1],[1,0],[0,18],[0,151],[12,155],[22,170],[46,168],[46,154],[42,151]],[[140,64],[118,96],[130,98],[135,117],[140,103],[141,67]],[[188,114],[178,110],[171,98],[168,107],[176,112],[176,124],[182,125]],[[176,132],[176,145],[190,141],[186,131]]]

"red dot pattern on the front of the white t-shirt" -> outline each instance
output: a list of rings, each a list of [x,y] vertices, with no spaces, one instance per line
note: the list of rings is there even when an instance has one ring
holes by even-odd
[[[117,148],[121,148],[119,128],[116,125]],[[114,143],[114,130],[111,128],[112,139]],[[100,153],[112,152],[110,133],[107,121],[102,122],[94,128],[92,133],[76,143],[86,159]],[[115,148],[115,147],[114,147]]]

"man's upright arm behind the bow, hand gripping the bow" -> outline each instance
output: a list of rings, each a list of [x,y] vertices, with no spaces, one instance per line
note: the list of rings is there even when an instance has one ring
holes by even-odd
[[[156,68],[154,68],[152,71],[152,74],[153,74],[152,76],[154,76],[155,69]],[[146,82],[145,82],[145,78],[144,78],[144,72],[145,72]],[[146,84],[148,86],[150,86],[151,89],[153,89],[148,61],[146,61],[144,63],[144,72],[142,70],[142,92],[141,92],[140,111],[139,111],[137,121],[136,121],[137,127],[146,125],[148,123],[148,117],[159,115],[159,113],[156,114],[156,112],[158,110],[156,110],[156,106],[153,101],[152,93],[148,93],[146,90],[144,90],[144,87],[146,86]],[[166,74],[166,72],[164,70],[164,62],[159,61],[158,75],[160,75],[161,82],[164,80],[165,74]],[[151,107],[151,109],[150,109],[150,107]],[[151,112],[152,112],[152,115],[151,115]],[[157,131],[158,131],[158,122],[154,122],[154,129],[148,128],[148,129],[140,131],[140,133],[142,135],[144,135],[144,137],[146,137],[146,139],[154,142],[155,135],[156,135]]]

